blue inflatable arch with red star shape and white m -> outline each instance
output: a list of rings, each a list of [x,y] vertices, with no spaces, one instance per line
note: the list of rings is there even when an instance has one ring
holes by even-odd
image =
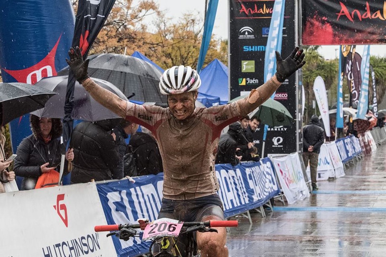
[[[0,68],[4,82],[34,84],[67,66],[74,34],[70,0],[0,0]],[[59,11],[60,10],[60,11]],[[12,149],[31,134],[29,114],[10,122]]]

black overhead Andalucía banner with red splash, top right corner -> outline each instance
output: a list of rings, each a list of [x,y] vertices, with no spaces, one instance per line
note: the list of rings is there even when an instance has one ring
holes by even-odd
[[[303,0],[303,45],[385,44],[386,2]]]

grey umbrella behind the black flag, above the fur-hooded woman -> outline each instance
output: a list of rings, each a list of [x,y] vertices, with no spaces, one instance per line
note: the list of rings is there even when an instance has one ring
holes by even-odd
[[[66,100],[66,87],[68,76],[55,76],[44,78],[37,82],[35,86],[52,90],[58,95],[53,96],[47,101],[44,108],[32,112],[38,117],[63,118],[64,117],[64,101]],[[126,96],[112,83],[102,79],[92,78],[98,85],[115,93],[120,98],[127,100]],[[90,94],[78,82],[75,83],[74,89],[74,108],[71,113],[71,118],[77,120],[88,120],[91,122],[104,120],[109,118],[120,118],[115,113],[103,107],[95,101]]]

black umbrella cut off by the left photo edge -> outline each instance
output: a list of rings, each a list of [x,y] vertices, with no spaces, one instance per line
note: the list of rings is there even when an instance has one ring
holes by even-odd
[[[0,124],[44,107],[56,93],[25,83],[0,83]]]

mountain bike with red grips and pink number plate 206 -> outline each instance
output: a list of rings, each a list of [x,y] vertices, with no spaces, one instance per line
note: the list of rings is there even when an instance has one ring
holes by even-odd
[[[151,240],[149,257],[199,257],[200,251],[193,232],[217,232],[212,227],[237,227],[237,220],[209,220],[183,222],[161,218],[152,222],[138,220],[134,224],[115,224],[95,226],[95,232],[113,231],[106,236],[115,235],[122,240],[138,237],[137,228],[143,230],[142,240]],[[185,238],[183,238],[185,235]],[[183,240],[180,240],[181,237]],[[146,255],[145,255],[146,256]]]

